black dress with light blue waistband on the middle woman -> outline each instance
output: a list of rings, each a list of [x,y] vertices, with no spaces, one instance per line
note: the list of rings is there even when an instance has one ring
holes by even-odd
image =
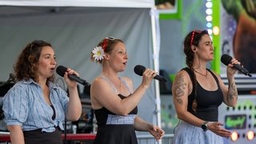
[[[120,98],[126,98],[118,94]],[[138,112],[137,106],[126,116],[113,114],[105,107],[94,110],[98,130],[94,144],[138,144],[134,118]]]

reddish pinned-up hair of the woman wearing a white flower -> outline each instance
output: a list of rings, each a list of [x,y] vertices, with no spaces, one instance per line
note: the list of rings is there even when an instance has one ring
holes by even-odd
[[[98,46],[102,46],[102,49],[104,50],[104,53],[106,54],[111,54],[111,51],[114,49],[114,46],[118,43],[118,42],[122,42],[124,43],[121,39],[116,39],[113,37],[106,37],[104,39],[102,39],[101,42],[98,43]],[[90,59],[94,62],[95,59],[93,58],[93,53],[91,53],[90,55]],[[102,63],[103,61],[100,60],[98,61],[99,63]]]

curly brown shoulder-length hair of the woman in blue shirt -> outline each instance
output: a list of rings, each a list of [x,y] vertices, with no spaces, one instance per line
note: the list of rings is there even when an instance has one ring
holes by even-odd
[[[18,81],[22,79],[27,81],[32,78],[34,82],[38,82],[38,60],[43,46],[51,47],[51,44],[42,40],[34,40],[28,43],[24,50],[22,50],[14,65],[14,73]],[[47,78],[47,81],[54,82],[54,75]]]

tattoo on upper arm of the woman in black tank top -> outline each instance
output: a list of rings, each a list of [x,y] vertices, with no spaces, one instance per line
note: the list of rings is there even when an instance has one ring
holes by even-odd
[[[174,99],[182,105],[182,96],[185,94],[186,83],[184,82],[184,75],[178,75],[174,82]]]

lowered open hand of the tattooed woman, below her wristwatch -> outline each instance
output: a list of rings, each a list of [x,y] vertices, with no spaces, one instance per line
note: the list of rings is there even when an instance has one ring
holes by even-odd
[[[226,130],[222,127],[224,125],[221,122],[210,122],[207,126],[208,130],[214,132],[215,134],[218,134],[219,136],[229,138],[231,135],[231,132],[229,130]]]

